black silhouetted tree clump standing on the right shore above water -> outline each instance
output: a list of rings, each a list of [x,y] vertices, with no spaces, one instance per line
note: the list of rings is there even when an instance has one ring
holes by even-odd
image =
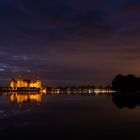
[[[119,92],[140,91],[140,78],[135,77],[133,74],[119,74],[113,79],[112,88]]]

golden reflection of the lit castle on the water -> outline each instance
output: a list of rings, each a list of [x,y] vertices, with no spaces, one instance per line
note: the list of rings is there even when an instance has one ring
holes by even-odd
[[[12,103],[23,104],[27,102],[41,102],[41,93],[11,93],[10,94],[10,101]]]

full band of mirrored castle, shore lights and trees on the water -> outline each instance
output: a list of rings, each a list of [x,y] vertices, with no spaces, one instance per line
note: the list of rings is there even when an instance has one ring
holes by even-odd
[[[25,92],[25,93],[17,93],[17,92],[10,92],[10,93],[3,93],[1,95],[6,95],[7,98],[10,99],[10,101],[12,103],[17,103],[19,105],[25,104],[25,103],[41,103],[42,98],[44,98],[45,96],[42,95],[46,95],[46,96],[65,96],[65,95],[78,95],[78,96],[111,96],[112,97],[112,102],[113,104],[115,104],[115,106],[119,109],[122,109],[124,107],[127,107],[129,109],[133,109],[136,106],[140,106],[140,94],[135,94],[135,93],[89,93],[89,92],[85,92],[83,93],[73,93],[73,92],[69,92],[69,93],[58,93],[58,92],[50,92],[50,93],[33,93],[33,92]],[[91,97],[92,98],[92,97]]]

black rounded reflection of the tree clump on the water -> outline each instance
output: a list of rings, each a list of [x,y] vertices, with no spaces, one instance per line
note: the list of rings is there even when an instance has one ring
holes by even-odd
[[[140,105],[140,94],[128,94],[128,93],[116,93],[112,94],[112,102],[116,105],[116,107],[122,109],[124,107],[128,107],[129,109],[133,109],[136,106]]]

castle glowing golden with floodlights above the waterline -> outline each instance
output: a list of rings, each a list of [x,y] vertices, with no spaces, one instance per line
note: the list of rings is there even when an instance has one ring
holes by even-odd
[[[12,79],[10,83],[12,89],[17,88],[41,88],[41,81],[37,79],[35,82],[33,80],[24,80],[21,76],[17,80]]]

